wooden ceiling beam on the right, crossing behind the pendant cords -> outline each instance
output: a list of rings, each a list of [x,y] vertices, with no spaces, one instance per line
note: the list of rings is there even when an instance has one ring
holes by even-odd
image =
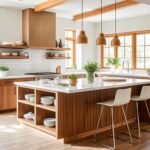
[[[137,4],[140,4],[140,3],[136,2],[136,1],[133,1],[133,0],[124,0],[124,1],[118,2],[116,4],[116,7],[117,7],[117,9],[121,9],[121,8],[134,6],[134,5],[137,5]],[[103,13],[108,13],[108,12],[114,11],[115,10],[115,4],[104,6],[102,9],[103,9],[102,10]],[[94,10],[91,10],[91,11],[88,11],[88,12],[84,12],[83,13],[83,18],[85,19],[85,18],[93,17],[93,16],[96,16],[96,15],[99,15],[99,14],[101,14],[101,8],[97,8],[97,9],[94,9]],[[80,19],[82,19],[82,14],[77,14],[73,17],[73,21],[78,21]]]

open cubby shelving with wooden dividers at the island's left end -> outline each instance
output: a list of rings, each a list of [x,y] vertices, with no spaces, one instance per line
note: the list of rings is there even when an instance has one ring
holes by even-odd
[[[33,103],[25,100],[26,94],[34,94],[35,100]],[[17,87],[17,117],[18,120],[26,125],[37,128],[49,134],[57,137],[57,123],[54,127],[44,126],[44,119],[46,118],[56,118],[56,106],[54,104],[50,106],[45,106],[40,103],[40,98],[42,96],[53,96],[57,101],[57,92],[39,90],[29,87],[20,86]],[[34,113],[35,120],[28,120],[24,118],[24,114],[32,112]]]

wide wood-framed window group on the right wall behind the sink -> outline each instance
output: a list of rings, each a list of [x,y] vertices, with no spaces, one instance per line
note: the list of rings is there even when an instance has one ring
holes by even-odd
[[[101,67],[107,66],[108,57],[128,60],[131,69],[150,68],[150,31],[119,33],[121,46],[111,47],[113,35],[106,35],[107,45],[101,50]]]

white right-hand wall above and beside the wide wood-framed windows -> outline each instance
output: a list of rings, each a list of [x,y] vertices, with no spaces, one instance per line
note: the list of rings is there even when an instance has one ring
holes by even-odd
[[[103,23],[103,33],[111,34],[114,33],[114,21],[104,22]],[[100,32],[100,24],[97,24],[96,27],[96,37]],[[130,31],[142,31],[142,30],[150,30],[150,16],[142,16],[124,20],[117,21],[117,32],[130,32]],[[97,50],[97,60],[100,62],[100,50]]]

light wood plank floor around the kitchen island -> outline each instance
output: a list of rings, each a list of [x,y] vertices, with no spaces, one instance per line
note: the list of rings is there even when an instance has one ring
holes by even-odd
[[[119,137],[119,150],[150,150],[150,132],[142,132],[142,139],[134,138],[132,145],[127,141],[128,136],[119,134]],[[74,144],[63,144],[62,140],[20,124],[15,113],[0,114],[0,150],[107,150],[102,143],[111,145],[111,137],[98,137],[96,143],[89,138]]]

